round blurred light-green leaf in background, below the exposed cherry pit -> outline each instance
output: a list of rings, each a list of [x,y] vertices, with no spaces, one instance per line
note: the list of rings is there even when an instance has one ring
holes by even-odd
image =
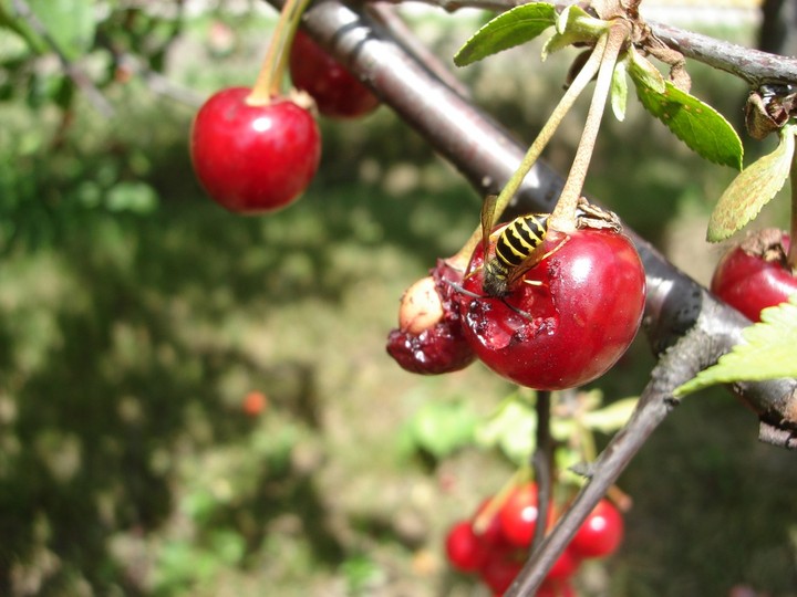
[[[410,421],[415,444],[445,458],[473,442],[477,417],[464,402],[426,402]]]

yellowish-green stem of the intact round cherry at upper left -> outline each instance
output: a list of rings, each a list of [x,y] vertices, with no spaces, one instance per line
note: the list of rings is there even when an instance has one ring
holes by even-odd
[[[293,43],[299,22],[310,0],[287,0],[280,11],[269,42],[266,57],[260,66],[247,104],[251,106],[266,106],[271,98],[279,95],[282,80],[290,57],[290,46]]]

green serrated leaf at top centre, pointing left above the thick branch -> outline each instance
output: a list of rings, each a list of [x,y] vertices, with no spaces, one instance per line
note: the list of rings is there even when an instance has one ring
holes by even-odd
[[[466,66],[489,55],[534,40],[556,23],[553,4],[536,2],[503,12],[476,33],[454,56],[454,64]]]

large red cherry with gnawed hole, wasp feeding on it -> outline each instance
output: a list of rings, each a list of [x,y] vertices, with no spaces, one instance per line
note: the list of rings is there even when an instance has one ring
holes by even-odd
[[[494,371],[536,389],[587,384],[605,373],[636,334],[645,277],[631,241],[611,230],[549,231],[535,265],[504,300],[483,297],[482,247],[460,293],[465,338]],[[557,249],[558,248],[558,249]],[[522,313],[519,313],[522,312]]]

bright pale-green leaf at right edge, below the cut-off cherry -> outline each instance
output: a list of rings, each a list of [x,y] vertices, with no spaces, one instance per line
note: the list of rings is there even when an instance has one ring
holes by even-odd
[[[762,311],[762,321],[742,332],[743,344],[694,379],[675,388],[681,397],[715,384],[797,377],[797,293]]]

